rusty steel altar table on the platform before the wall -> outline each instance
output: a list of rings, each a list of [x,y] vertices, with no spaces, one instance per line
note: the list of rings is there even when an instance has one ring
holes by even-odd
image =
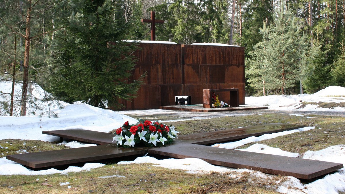
[[[204,98],[204,108],[213,108],[212,107],[212,93],[219,92],[229,92],[230,99],[227,104],[231,107],[239,107],[239,93],[238,88],[227,88],[227,89],[204,89],[203,98]]]

